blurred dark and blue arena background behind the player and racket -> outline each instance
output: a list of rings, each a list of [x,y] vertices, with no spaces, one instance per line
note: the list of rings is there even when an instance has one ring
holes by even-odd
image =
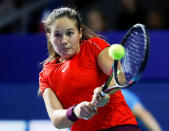
[[[151,45],[147,68],[130,90],[168,131],[168,0],[1,0],[0,131],[56,130],[37,92],[40,62],[48,55],[41,20],[61,6],[76,8],[82,21],[110,44],[119,43],[135,23],[148,27]]]

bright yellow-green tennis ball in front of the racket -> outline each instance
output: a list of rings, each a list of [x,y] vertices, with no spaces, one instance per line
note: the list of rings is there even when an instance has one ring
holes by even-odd
[[[122,45],[119,44],[113,44],[108,49],[108,54],[110,57],[112,57],[114,60],[120,60],[125,55],[125,49]]]

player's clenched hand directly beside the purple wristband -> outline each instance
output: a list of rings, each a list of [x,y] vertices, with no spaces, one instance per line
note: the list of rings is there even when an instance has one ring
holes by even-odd
[[[80,119],[91,119],[96,113],[96,108],[90,102],[82,102],[74,109],[75,115]]]

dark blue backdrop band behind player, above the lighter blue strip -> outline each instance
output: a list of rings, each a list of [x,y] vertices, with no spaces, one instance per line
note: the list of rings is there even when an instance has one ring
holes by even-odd
[[[105,39],[119,43],[124,32],[110,32]],[[145,79],[169,79],[169,32],[150,32],[150,55]],[[44,35],[0,36],[0,81],[37,81],[40,62],[47,57]]]

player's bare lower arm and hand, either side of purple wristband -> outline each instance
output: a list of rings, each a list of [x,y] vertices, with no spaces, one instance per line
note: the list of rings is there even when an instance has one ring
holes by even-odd
[[[73,124],[67,118],[67,110],[63,109],[61,102],[50,88],[44,90],[43,99],[49,118],[56,128],[67,128]],[[79,119],[90,119],[95,115],[96,111],[90,102],[82,102],[75,107],[74,113]]]

